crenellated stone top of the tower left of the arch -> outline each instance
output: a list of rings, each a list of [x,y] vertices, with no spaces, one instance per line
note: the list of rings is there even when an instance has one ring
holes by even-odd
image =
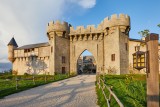
[[[60,22],[60,21],[51,21],[48,23],[47,26],[47,33],[58,31],[58,32],[68,32],[69,33],[69,27],[67,22]]]

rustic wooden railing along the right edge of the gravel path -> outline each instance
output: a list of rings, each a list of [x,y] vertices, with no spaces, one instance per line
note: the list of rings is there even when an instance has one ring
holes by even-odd
[[[102,85],[101,85],[102,83]],[[111,97],[113,96],[113,98],[116,100],[116,102],[118,103],[118,105],[120,107],[124,107],[124,105],[121,103],[121,101],[118,99],[118,97],[113,93],[112,88],[113,87],[109,87],[105,84],[105,81],[101,78],[101,76],[98,74],[97,75],[97,84],[98,84],[98,88],[102,90],[103,96],[106,100],[106,104],[108,107],[110,107],[110,102],[111,102]],[[109,91],[109,96],[107,97],[105,94],[104,89],[107,89]]]

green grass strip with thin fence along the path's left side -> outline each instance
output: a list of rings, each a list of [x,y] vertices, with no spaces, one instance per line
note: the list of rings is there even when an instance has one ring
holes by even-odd
[[[0,76],[0,78],[3,78],[3,76]],[[22,87],[25,87],[26,85],[39,85],[39,84],[46,84],[48,82],[53,82],[53,81],[58,81],[61,79],[65,79],[65,78],[69,78],[71,77],[68,74],[58,74],[58,75],[37,75],[37,76],[33,76],[33,75],[29,75],[29,76],[14,76],[11,75],[9,78],[4,78],[5,79],[1,79],[0,84],[7,84],[8,87],[7,88],[1,88],[0,87],[0,93],[1,91],[5,91],[5,90],[9,90],[9,89],[20,89]],[[22,83],[25,82],[27,84],[23,84]]]

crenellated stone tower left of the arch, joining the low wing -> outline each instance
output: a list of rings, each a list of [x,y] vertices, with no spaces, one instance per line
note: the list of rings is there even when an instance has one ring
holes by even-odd
[[[47,26],[50,44],[49,71],[51,74],[69,72],[69,25],[67,22],[51,21]]]

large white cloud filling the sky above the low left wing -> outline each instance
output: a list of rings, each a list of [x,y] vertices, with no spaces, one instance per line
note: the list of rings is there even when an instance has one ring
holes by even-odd
[[[45,42],[50,20],[65,19],[77,5],[86,10],[95,4],[96,0],[1,0],[0,62],[7,59],[7,44],[13,35],[19,46]]]

